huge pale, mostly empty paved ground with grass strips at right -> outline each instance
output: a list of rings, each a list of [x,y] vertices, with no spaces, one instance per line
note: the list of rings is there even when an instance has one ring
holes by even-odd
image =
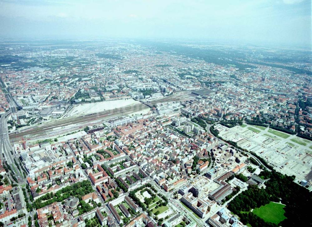
[[[289,134],[278,136],[280,132],[269,128],[260,129],[254,126],[227,128],[221,125],[218,128],[221,129],[219,136],[223,139],[235,141],[238,146],[255,152],[273,165],[277,171],[295,175],[298,181],[308,180],[312,167],[311,141],[303,141]]]

